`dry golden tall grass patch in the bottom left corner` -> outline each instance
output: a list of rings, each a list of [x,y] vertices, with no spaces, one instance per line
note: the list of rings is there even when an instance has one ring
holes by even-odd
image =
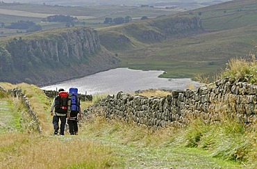
[[[1,136],[0,168],[109,168],[108,146],[75,137],[27,134]]]

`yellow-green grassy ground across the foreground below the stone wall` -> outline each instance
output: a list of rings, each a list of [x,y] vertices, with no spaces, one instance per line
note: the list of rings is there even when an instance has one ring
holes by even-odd
[[[5,88],[14,87],[8,83],[1,85]],[[50,100],[47,101],[41,90],[35,86],[26,83],[17,86],[23,88],[31,100],[40,118],[43,132],[42,134],[28,134],[28,131],[20,130],[1,132],[0,168],[254,168],[256,166],[252,154],[255,148],[249,150],[256,134],[242,131],[242,126],[233,122],[208,126],[196,121],[185,129],[167,127],[154,131],[122,121],[107,121],[100,117],[88,116],[84,117],[85,121],[80,122],[78,136],[69,136],[67,132],[65,136],[53,136],[49,113]],[[160,91],[150,91],[150,93],[150,95],[165,95]],[[1,92],[1,99],[6,98],[3,94]],[[140,95],[149,95],[149,91]],[[94,99],[94,102],[97,100]],[[94,102],[84,102],[83,108]],[[197,143],[198,146],[195,146],[194,137],[199,136],[199,133],[201,140]],[[205,145],[208,145],[208,148]],[[233,159],[233,156],[239,152],[243,158]]]

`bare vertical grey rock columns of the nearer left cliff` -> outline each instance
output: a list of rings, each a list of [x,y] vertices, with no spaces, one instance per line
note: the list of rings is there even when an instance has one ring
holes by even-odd
[[[91,29],[76,29],[56,35],[54,40],[35,39],[26,41],[28,51],[35,53],[35,49],[42,56],[56,56],[60,58],[83,58],[85,54],[96,54],[100,49],[100,43],[96,31]]]

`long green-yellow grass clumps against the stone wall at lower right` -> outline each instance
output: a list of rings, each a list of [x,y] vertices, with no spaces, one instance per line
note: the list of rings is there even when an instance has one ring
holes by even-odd
[[[219,121],[206,123],[191,118],[191,123],[175,139],[174,145],[198,147],[211,152],[210,156],[226,161],[235,161],[244,166],[256,167],[256,124],[244,124],[233,117],[237,112],[229,108],[235,100],[212,103],[208,113],[218,115]]]

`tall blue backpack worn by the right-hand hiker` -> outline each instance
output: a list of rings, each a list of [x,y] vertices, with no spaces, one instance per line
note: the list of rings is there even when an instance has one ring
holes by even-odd
[[[80,102],[78,99],[78,88],[69,88],[69,95],[70,95],[70,100],[71,100],[70,117],[74,118],[78,114],[79,106],[80,106]]]

